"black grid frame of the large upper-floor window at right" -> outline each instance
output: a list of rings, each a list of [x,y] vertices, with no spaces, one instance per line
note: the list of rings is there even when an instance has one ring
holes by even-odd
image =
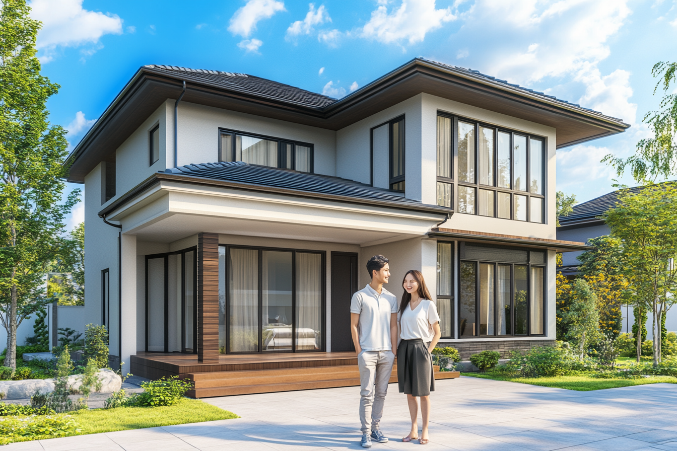
[[[451,149],[450,151],[452,152],[452,155],[450,156],[450,162],[452,165],[451,172],[452,178],[446,178],[446,177],[441,177],[437,176],[437,183],[448,183],[452,186],[452,201],[451,201],[451,207],[454,208],[456,206],[456,211],[459,213],[463,214],[473,214],[475,216],[483,216],[485,218],[497,218],[497,219],[506,219],[506,220],[518,220],[515,218],[515,195],[523,195],[526,197],[526,205],[525,205],[525,210],[526,210],[526,220],[522,222],[531,222],[532,224],[546,224],[546,218],[548,215],[546,214],[546,196],[547,196],[547,179],[548,179],[548,172],[547,172],[547,143],[548,140],[546,137],[542,137],[539,135],[533,135],[531,133],[523,133],[517,130],[511,130],[509,128],[505,128],[502,126],[498,126],[496,124],[489,124],[487,122],[482,122],[478,120],[473,120],[473,119],[468,119],[464,118],[462,116],[455,116],[453,114],[448,114],[445,112],[438,111],[437,116],[441,116],[444,118],[450,118],[452,120],[452,143],[451,143]],[[436,122],[435,126],[437,127],[437,116],[436,116]],[[466,122],[468,124],[473,124],[475,126],[475,181],[474,183],[470,182],[462,182],[458,178],[456,174],[456,170],[458,170],[458,121]],[[494,156],[493,156],[493,176],[494,176],[494,185],[483,185],[479,183],[479,128],[480,127],[486,127],[486,128],[492,128],[494,130]],[[504,187],[499,187],[498,186],[498,133],[508,133],[510,135],[510,187],[509,188],[504,188]],[[439,133],[439,131],[438,131]],[[526,139],[527,142],[527,149],[526,149],[526,168],[527,168],[527,173],[525,174],[526,176],[526,184],[527,184],[527,191],[521,191],[521,190],[516,190],[514,187],[514,181],[513,181],[513,176],[515,174],[515,154],[514,154],[514,142],[515,142],[515,135],[523,136]],[[538,193],[531,193],[530,190],[530,185],[531,185],[531,139],[537,139],[542,142],[542,158],[541,158],[541,171],[542,171],[542,192],[543,194],[538,194]],[[437,149],[436,149],[437,150]],[[436,153],[437,154],[437,153]],[[436,163],[436,171],[437,173],[437,163]],[[475,191],[475,208],[473,213],[466,213],[466,212],[461,212],[458,210],[458,193],[460,192],[460,187],[468,187],[471,188]],[[494,214],[493,216],[487,216],[487,215],[481,215],[479,214],[479,189],[485,189],[487,191],[493,191],[493,197],[494,197]],[[507,193],[510,195],[510,218],[500,218],[498,216],[498,193]],[[542,199],[542,210],[541,210],[541,220],[540,221],[531,221],[531,197],[536,197],[539,199]]]

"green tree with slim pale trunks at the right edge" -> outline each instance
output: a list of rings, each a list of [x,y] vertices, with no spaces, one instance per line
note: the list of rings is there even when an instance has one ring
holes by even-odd
[[[661,361],[662,313],[677,289],[677,183],[648,185],[638,193],[621,191],[603,217],[611,236],[623,241],[623,271],[635,308],[653,313],[653,363]],[[638,334],[638,348],[641,348]]]

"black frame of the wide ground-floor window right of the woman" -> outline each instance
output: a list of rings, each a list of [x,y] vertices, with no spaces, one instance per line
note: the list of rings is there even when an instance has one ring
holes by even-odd
[[[513,248],[515,250],[528,252],[527,262],[515,262],[515,261],[488,261],[483,259],[475,258],[466,258],[462,256],[460,251],[461,246],[464,244],[461,241],[459,243],[459,252],[456,267],[456,275],[458,277],[458,308],[456,309],[456,327],[458,327],[458,338],[459,339],[496,339],[496,338],[505,338],[505,337],[546,337],[548,335],[548,256],[547,252],[544,250],[533,250],[527,248]],[[503,248],[503,247],[502,247]],[[504,249],[510,249],[508,247]],[[546,258],[545,263],[531,263],[531,252],[545,252]],[[460,303],[460,289],[463,285],[461,281],[461,266],[463,262],[469,262],[475,264],[475,324],[479,325],[479,265],[480,264],[493,264],[494,265],[494,335],[479,335],[479,327],[476,327],[474,335],[461,335],[461,303]],[[501,335],[498,333],[498,266],[510,266],[510,333]],[[516,334],[515,333],[515,266],[527,266],[527,333],[526,334]],[[544,277],[543,277],[543,333],[531,333],[531,268],[543,268]]]

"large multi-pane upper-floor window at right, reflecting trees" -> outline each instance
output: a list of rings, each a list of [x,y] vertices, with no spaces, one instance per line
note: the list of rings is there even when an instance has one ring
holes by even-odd
[[[456,211],[544,222],[544,139],[452,116],[437,116],[437,204]]]

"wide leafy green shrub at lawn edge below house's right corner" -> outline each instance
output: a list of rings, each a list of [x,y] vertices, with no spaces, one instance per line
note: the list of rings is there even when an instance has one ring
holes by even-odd
[[[569,343],[557,341],[555,346],[537,346],[524,354],[512,351],[506,372],[518,377],[563,376],[570,373],[577,362]]]

